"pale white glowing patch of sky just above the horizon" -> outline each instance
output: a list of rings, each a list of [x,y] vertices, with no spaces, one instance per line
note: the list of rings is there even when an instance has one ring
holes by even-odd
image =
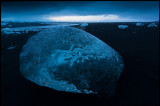
[[[130,21],[130,19],[122,19],[118,15],[87,15],[87,16],[53,16],[46,18],[56,22],[116,22]]]

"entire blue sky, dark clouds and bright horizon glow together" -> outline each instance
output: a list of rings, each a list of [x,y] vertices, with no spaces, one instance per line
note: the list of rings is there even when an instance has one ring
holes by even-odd
[[[159,1],[5,1],[1,21],[159,21]]]

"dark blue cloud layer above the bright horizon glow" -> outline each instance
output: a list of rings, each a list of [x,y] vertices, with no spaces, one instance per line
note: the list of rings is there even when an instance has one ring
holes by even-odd
[[[59,15],[115,14],[134,19],[159,20],[158,1],[18,1],[1,3],[2,18],[26,19]],[[43,20],[43,19],[42,19]]]

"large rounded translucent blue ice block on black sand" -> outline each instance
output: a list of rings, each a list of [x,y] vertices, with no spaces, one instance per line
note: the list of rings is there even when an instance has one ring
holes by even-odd
[[[28,40],[20,54],[20,71],[25,78],[72,93],[112,96],[123,66],[114,49],[73,27],[39,32]]]

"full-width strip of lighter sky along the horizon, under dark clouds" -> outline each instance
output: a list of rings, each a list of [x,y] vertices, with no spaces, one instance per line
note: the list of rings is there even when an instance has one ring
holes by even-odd
[[[38,19],[38,20],[37,20]],[[69,15],[69,16],[51,16],[43,15],[40,17],[16,18],[16,17],[1,17],[1,21],[5,22],[153,22],[157,20],[143,20],[133,17],[120,17],[118,15]],[[159,21],[159,20],[158,20]]]

